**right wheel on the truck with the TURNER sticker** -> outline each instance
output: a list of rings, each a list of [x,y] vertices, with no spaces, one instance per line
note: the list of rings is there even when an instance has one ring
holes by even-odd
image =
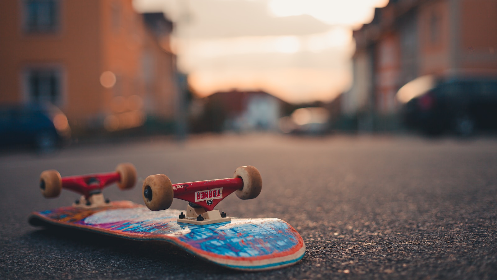
[[[234,178],[240,177],[244,181],[244,187],[235,193],[240,199],[256,198],[262,189],[262,178],[259,170],[253,166],[240,166],[235,170]]]

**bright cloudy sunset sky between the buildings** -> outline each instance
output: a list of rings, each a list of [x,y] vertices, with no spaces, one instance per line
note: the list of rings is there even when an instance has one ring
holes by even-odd
[[[175,23],[171,48],[194,92],[262,90],[331,101],[352,83],[352,30],[388,0],[134,0]]]

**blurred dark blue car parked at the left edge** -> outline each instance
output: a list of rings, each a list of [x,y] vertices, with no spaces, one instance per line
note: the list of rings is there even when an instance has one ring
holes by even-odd
[[[30,144],[52,150],[71,137],[67,117],[52,105],[0,107],[0,146]]]

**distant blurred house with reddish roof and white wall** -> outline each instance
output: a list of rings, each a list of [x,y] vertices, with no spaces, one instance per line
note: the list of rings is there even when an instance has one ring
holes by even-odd
[[[286,103],[268,93],[218,92],[192,102],[193,132],[276,131]]]

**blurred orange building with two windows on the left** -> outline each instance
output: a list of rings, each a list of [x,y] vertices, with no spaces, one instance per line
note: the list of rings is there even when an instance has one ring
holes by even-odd
[[[172,119],[171,29],[132,0],[0,1],[0,103],[50,102],[80,129]]]

